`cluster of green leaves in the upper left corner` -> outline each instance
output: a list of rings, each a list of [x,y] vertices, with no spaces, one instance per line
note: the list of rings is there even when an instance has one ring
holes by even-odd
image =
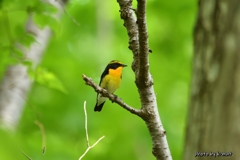
[[[62,86],[60,80],[58,80],[53,73],[47,72],[41,67],[38,67],[35,73],[32,62],[25,59],[25,55],[19,48],[19,45],[21,44],[22,46],[29,48],[30,45],[35,42],[35,38],[30,33],[26,32],[24,28],[24,22],[26,23],[27,19],[24,19],[24,21],[20,24],[12,26],[14,23],[11,23],[12,19],[9,18],[9,14],[15,10],[8,10],[6,8],[25,8],[23,12],[28,15],[34,14],[34,19],[38,26],[41,28],[50,26],[55,29],[57,28],[57,21],[53,18],[53,13],[55,13],[57,9],[49,3],[39,0],[27,1],[27,3],[22,3],[21,1],[15,2],[16,4],[13,4],[13,2],[0,2],[2,8],[2,20],[3,24],[5,24],[5,30],[7,31],[6,38],[8,38],[10,42],[7,45],[0,45],[0,50],[2,51],[2,54],[0,55],[0,78],[3,76],[7,66],[21,63],[28,67],[28,73],[31,78],[36,76],[36,81],[39,84],[45,85],[49,88],[58,89],[66,93],[66,90]]]

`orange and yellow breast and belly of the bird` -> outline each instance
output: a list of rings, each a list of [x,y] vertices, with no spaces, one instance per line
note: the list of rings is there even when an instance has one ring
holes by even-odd
[[[122,67],[117,69],[109,69],[109,73],[103,78],[101,87],[109,93],[114,93],[120,86],[122,77]]]

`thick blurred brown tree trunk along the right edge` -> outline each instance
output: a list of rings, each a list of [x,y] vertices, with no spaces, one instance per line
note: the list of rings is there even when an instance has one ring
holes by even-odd
[[[240,1],[199,0],[183,159],[239,159],[239,123]]]

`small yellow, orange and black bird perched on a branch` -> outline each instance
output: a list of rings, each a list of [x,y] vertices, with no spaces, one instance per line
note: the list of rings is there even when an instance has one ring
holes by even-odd
[[[126,66],[120,61],[111,61],[101,75],[99,86],[106,89],[109,93],[114,93],[122,80],[122,68]],[[98,93],[94,111],[100,112],[106,100],[106,97]]]

